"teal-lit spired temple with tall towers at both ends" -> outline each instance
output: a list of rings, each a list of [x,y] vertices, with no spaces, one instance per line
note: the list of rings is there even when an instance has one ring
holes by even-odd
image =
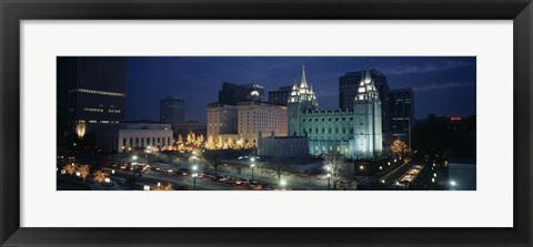
[[[351,158],[382,155],[381,101],[370,71],[359,80],[353,110],[320,111],[305,68],[300,85],[294,84],[288,102],[289,135],[305,136],[309,154],[341,154]]]

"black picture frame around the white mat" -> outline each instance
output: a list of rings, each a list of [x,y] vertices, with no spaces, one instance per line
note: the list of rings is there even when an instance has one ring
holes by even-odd
[[[2,246],[532,246],[533,6],[531,0],[1,0],[0,16],[0,243]],[[21,20],[82,19],[513,20],[514,74],[512,82],[504,83],[513,83],[514,93],[514,227],[20,227],[19,42],[21,38],[19,23]]]

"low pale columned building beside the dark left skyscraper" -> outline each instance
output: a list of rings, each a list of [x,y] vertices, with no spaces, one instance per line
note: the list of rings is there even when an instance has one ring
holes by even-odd
[[[97,145],[104,151],[117,153],[148,146],[168,150],[173,145],[172,130],[170,124],[121,124],[117,130],[99,132]]]

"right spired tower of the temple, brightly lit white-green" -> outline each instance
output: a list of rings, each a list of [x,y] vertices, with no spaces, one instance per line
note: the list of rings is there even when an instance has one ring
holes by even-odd
[[[353,158],[380,157],[383,150],[381,102],[368,65],[366,72],[361,73],[353,110],[355,122],[352,141]]]

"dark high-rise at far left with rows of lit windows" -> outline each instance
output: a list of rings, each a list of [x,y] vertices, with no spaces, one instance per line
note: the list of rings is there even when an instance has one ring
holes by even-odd
[[[125,58],[57,58],[58,144],[118,127],[125,116]]]

